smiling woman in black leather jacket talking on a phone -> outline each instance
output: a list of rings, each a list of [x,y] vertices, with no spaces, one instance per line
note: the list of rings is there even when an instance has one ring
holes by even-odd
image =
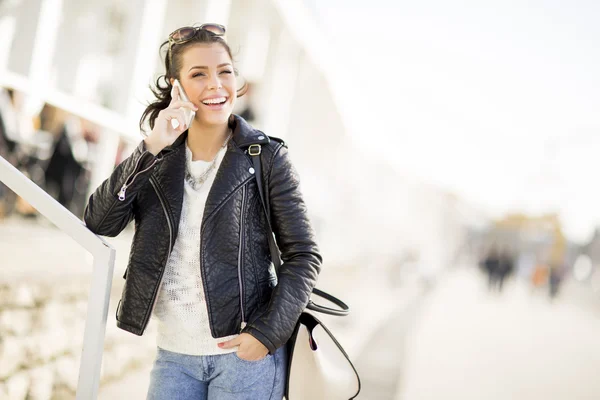
[[[237,81],[224,33],[205,24],[169,35],[164,83],[140,120],[152,131],[85,212],[104,236],[135,220],[117,325],[142,335],[158,319],[148,399],[281,399],[284,345],[321,265],[286,146],[232,114]],[[189,127],[184,109],[195,111]],[[261,159],[270,221],[251,157]]]

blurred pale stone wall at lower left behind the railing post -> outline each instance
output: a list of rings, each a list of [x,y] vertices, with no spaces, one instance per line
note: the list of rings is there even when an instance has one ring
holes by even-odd
[[[115,282],[112,291],[101,384],[151,363],[155,355],[152,325],[141,338],[115,326],[121,285]],[[88,291],[83,278],[0,286],[1,399],[75,397]]]

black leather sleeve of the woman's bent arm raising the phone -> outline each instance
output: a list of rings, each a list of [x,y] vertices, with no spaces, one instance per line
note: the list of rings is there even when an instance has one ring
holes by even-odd
[[[133,218],[133,202],[160,161],[146,150],[144,142],[115,168],[90,196],[83,219],[97,235],[117,236]]]

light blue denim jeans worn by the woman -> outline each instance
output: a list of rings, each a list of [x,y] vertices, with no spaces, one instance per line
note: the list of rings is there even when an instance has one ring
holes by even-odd
[[[259,361],[236,353],[190,356],[158,349],[147,400],[281,400],[285,346]]]

